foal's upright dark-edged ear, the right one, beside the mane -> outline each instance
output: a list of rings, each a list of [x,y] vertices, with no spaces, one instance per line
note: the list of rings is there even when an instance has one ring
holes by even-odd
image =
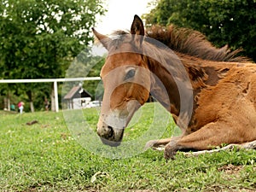
[[[140,46],[143,43],[145,30],[143,20],[138,15],[134,15],[134,19],[131,24],[131,34],[134,35],[134,40],[137,46]]]

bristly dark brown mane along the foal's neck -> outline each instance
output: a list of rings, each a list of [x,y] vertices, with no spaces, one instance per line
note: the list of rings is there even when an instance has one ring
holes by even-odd
[[[239,56],[242,49],[231,51],[227,45],[214,47],[201,32],[177,26],[152,26],[147,36],[154,38],[170,49],[184,55],[190,55],[208,61],[248,62],[247,57]]]

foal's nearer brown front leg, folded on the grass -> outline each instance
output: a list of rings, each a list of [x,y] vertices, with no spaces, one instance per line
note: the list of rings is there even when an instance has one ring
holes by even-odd
[[[165,158],[174,159],[178,150],[207,150],[223,143],[245,143],[247,136],[243,130],[241,125],[230,127],[221,121],[210,123],[198,131],[168,143],[165,148]]]

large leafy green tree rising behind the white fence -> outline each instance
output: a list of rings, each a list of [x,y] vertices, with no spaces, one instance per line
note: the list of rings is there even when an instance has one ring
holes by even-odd
[[[104,12],[101,0],[2,0],[0,78],[63,78],[73,58],[93,40],[90,27]],[[20,89],[32,102],[38,84]]]

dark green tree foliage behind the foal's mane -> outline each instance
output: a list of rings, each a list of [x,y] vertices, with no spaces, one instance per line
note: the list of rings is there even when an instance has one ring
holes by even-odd
[[[256,61],[256,0],[159,0],[147,25],[193,28],[218,47],[242,48]]]

